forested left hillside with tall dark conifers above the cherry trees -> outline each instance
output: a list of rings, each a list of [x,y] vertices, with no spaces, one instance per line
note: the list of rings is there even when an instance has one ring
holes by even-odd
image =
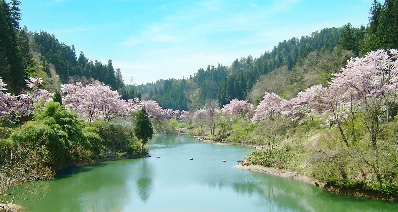
[[[126,90],[121,70],[115,70],[111,59],[107,64],[93,62],[82,51],[77,56],[73,45],[59,42],[55,35],[46,31],[28,32],[26,26],[21,29],[20,3],[0,2],[0,76],[8,84],[8,91],[20,91],[28,77],[42,78],[44,87],[50,91],[58,90],[60,83],[86,84],[94,79],[119,91],[125,100],[140,99],[139,92]]]

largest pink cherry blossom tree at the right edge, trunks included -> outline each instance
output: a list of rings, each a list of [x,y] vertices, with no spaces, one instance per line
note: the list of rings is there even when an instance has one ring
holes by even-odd
[[[377,180],[382,183],[379,164],[378,134],[380,121],[389,121],[391,110],[396,109],[398,72],[396,49],[371,51],[363,58],[351,58],[345,68],[334,74],[324,95],[324,108],[332,111],[341,136],[348,146],[348,139],[341,129],[345,119],[351,121],[351,132],[355,142],[356,114],[363,117],[365,128],[371,136],[374,150],[372,159],[361,158],[371,167]],[[386,119],[385,119],[386,117]]]

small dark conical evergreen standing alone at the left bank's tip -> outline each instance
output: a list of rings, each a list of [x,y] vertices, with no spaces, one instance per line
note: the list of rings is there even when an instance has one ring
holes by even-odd
[[[148,142],[148,138],[152,138],[153,129],[150,123],[148,113],[144,109],[140,110],[135,119],[134,134],[138,139],[142,140],[142,150],[144,145]]]

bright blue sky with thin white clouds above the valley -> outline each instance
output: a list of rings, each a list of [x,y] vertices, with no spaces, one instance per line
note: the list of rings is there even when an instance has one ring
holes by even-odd
[[[136,84],[182,78],[325,27],[367,25],[372,0],[22,0],[21,25],[74,44]]]

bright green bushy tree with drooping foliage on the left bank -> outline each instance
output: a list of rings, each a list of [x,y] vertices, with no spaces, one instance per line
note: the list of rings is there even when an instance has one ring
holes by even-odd
[[[75,113],[50,101],[10,135],[14,145],[43,146],[47,165],[64,167],[90,161],[100,151],[100,135],[95,127],[84,128]],[[44,156],[43,156],[44,157]]]

